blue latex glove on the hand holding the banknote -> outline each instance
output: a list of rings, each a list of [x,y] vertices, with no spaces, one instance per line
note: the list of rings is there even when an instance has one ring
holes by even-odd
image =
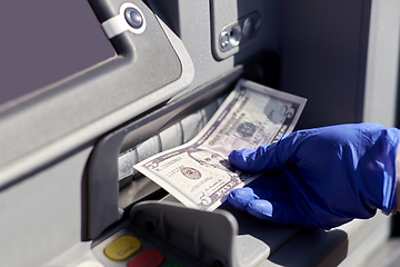
[[[376,123],[301,130],[258,149],[233,150],[231,165],[266,172],[228,201],[283,225],[330,229],[396,207],[400,130]],[[273,170],[271,172],[271,170]]]

